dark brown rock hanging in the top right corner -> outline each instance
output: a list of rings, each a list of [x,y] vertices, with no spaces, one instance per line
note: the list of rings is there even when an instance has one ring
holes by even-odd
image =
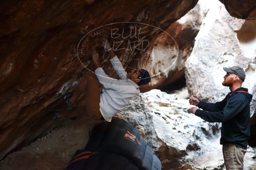
[[[229,14],[241,19],[256,19],[256,2],[254,0],[219,0],[225,5]]]

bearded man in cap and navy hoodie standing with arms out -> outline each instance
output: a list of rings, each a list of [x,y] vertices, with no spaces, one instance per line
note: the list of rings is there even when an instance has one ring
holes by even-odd
[[[244,69],[238,66],[223,67],[227,72],[223,86],[230,89],[228,95],[216,103],[206,103],[189,97],[189,103],[196,107],[188,109],[207,122],[221,122],[222,152],[226,169],[243,169],[244,154],[250,138],[250,102],[252,95],[242,88],[245,79]]]

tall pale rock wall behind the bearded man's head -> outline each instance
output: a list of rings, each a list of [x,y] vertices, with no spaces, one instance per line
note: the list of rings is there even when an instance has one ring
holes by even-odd
[[[223,4],[212,6],[185,64],[190,96],[208,102],[222,100],[230,91],[222,86],[226,74],[223,67],[236,65],[246,71],[243,87],[253,93],[256,85],[256,31],[251,29],[252,25],[255,28],[256,22],[231,17]],[[255,102],[251,104],[253,114]]]

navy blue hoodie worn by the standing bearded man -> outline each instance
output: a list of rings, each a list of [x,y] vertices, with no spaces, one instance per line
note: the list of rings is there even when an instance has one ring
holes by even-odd
[[[250,102],[252,95],[246,88],[238,88],[221,101],[206,103],[199,100],[195,115],[207,122],[222,122],[220,144],[232,143],[247,149],[250,138]],[[238,92],[238,93],[236,93]]]

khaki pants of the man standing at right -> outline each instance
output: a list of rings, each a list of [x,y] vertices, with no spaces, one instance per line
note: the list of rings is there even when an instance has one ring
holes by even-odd
[[[226,170],[244,169],[244,154],[246,150],[233,144],[224,144],[222,145],[222,152]]]

